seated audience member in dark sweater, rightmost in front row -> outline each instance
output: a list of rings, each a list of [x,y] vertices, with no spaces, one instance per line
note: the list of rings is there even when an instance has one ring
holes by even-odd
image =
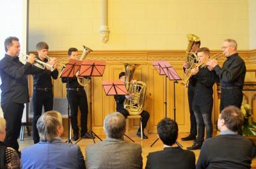
[[[220,135],[205,140],[196,169],[251,168],[253,143],[237,133],[243,121],[239,108],[229,106],[222,110],[218,119]]]

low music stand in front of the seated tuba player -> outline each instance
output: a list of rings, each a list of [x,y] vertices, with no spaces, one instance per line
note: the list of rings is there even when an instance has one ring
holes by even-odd
[[[127,95],[127,89],[125,87],[124,82],[118,80],[118,81],[104,81],[102,82],[102,86],[104,88],[104,91],[106,93],[106,96],[115,96],[115,95]],[[132,142],[132,138],[129,136],[125,135],[127,138],[129,138]]]

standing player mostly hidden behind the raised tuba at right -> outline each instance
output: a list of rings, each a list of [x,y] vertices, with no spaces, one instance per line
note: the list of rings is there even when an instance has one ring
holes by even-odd
[[[197,50],[200,48],[200,41],[195,41],[193,43],[193,46],[191,48],[191,52],[195,53]],[[191,55],[193,57],[193,55]],[[189,68],[189,62],[184,62],[183,64],[183,69],[184,71]],[[195,93],[195,82],[193,80],[189,79],[189,84],[188,84],[188,105],[189,105],[189,114],[190,114],[190,132],[189,135],[181,138],[182,141],[188,141],[188,140],[195,140],[196,138],[196,118],[195,114],[193,112],[193,98],[194,98],[194,93]]]

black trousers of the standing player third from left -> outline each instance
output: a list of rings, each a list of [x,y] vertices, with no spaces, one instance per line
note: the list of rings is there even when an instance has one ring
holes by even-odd
[[[79,134],[79,128],[77,126],[77,112],[78,107],[81,112],[81,135],[87,133],[87,117],[88,117],[88,103],[86,92],[84,90],[81,91],[68,91],[68,103],[70,105],[71,113],[71,126],[73,129],[73,134]]]

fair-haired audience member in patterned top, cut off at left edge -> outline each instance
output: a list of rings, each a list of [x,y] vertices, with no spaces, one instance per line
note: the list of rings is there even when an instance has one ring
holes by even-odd
[[[20,157],[17,151],[3,143],[6,135],[6,121],[0,117],[0,168],[20,168]]]

